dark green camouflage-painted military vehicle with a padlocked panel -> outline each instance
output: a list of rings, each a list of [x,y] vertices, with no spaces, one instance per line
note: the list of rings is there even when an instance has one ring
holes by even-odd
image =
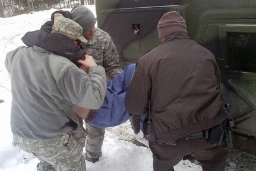
[[[160,44],[157,22],[184,17],[188,35],[222,70],[223,99],[235,120],[235,149],[256,154],[256,0],[97,0],[97,25],[116,44],[121,66]]]

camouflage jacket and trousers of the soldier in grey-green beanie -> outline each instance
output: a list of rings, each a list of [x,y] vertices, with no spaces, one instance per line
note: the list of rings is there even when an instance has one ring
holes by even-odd
[[[87,44],[81,44],[86,54],[93,56],[97,65],[103,66],[110,79],[122,72],[116,46],[108,33],[95,28],[94,37]],[[86,154],[90,158],[102,156],[105,128],[97,128],[86,122]]]

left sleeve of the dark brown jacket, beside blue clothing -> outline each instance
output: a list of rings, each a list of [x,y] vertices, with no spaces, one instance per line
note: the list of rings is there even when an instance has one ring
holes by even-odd
[[[146,71],[143,64],[138,62],[125,97],[125,105],[129,114],[141,115],[147,113],[150,95],[150,74],[148,71]]]

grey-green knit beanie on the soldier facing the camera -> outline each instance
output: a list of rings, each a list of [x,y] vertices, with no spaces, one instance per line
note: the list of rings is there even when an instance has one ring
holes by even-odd
[[[71,19],[81,25],[83,31],[90,30],[96,23],[93,12],[84,6],[74,7],[71,10]]]

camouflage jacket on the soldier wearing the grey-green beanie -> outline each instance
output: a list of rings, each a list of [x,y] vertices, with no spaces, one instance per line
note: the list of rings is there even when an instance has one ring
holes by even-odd
[[[108,33],[95,28],[94,37],[87,44],[81,44],[86,54],[93,56],[95,62],[103,66],[107,75],[113,79],[122,72],[116,46]]]

